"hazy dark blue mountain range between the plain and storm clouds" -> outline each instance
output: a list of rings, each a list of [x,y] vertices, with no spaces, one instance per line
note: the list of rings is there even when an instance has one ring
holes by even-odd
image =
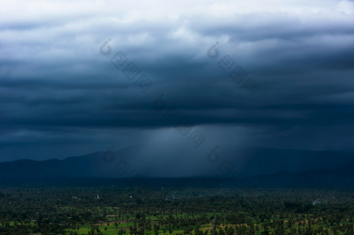
[[[350,173],[354,169],[353,153],[260,147],[229,147],[223,151],[220,155],[227,156],[235,170],[241,170],[258,184],[354,184]],[[162,178],[224,177],[218,170],[220,163],[210,163],[206,156],[189,155],[182,150],[138,145],[108,154],[96,152],[64,160],[2,162],[0,183],[13,179],[123,178],[136,174]]]

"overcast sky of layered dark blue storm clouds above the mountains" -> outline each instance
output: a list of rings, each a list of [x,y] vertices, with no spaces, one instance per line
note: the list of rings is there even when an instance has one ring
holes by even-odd
[[[0,52],[0,161],[353,150],[354,2],[1,1]]]

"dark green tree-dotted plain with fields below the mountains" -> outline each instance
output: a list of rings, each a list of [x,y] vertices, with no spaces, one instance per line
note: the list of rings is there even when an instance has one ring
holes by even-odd
[[[349,189],[6,187],[0,234],[352,235],[353,200]]]

